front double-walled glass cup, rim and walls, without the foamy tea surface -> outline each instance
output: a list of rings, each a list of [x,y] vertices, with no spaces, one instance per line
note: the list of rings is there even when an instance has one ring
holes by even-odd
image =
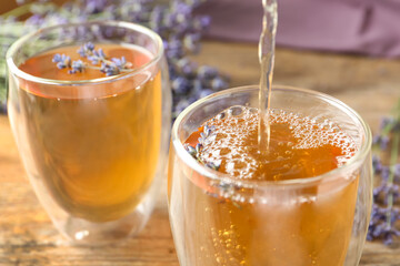
[[[172,127],[168,198],[181,266],[354,266],[372,201],[371,133],[339,100],[274,86],[272,110],[329,120],[358,147],[344,165],[316,177],[233,180],[198,163],[184,149],[207,120],[234,105],[258,106],[258,86],[226,90],[186,109]]]

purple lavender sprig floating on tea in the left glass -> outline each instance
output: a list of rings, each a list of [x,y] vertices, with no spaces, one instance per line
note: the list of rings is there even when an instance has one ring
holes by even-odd
[[[69,68],[70,70],[68,73],[70,74],[82,73],[86,69],[98,69],[106,73],[106,75],[110,76],[119,74],[121,71],[129,71],[130,66],[132,66],[132,63],[127,62],[124,57],[121,59],[111,58],[111,60],[108,60],[103,50],[101,48],[96,50],[94,44],[91,42],[84,43],[82,47],[80,47],[78,53],[82,58],[88,59],[93,65],[90,65],[82,60],[71,62],[70,57],[59,53],[54,54],[52,61],[57,63],[57,68],[59,69]],[[101,64],[100,68],[97,66],[99,63]]]

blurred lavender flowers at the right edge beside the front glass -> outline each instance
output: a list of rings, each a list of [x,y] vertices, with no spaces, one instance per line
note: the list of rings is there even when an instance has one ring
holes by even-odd
[[[373,137],[373,150],[379,153],[372,157],[376,177],[380,184],[373,190],[373,206],[367,239],[383,239],[390,245],[400,236],[397,225],[400,221],[400,209],[396,206],[400,200],[400,100],[394,109],[394,115],[381,122],[380,134]],[[383,164],[384,155],[389,155]]]

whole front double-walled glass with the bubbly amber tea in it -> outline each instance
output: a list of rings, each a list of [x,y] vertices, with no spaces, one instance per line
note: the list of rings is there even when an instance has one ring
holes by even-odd
[[[333,98],[277,88],[260,150],[258,92],[216,93],[173,125],[168,195],[180,265],[357,265],[371,204],[368,127]]]

